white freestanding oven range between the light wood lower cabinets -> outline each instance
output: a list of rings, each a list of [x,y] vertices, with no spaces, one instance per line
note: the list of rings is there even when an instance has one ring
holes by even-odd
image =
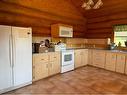
[[[74,50],[61,51],[61,73],[74,70]]]

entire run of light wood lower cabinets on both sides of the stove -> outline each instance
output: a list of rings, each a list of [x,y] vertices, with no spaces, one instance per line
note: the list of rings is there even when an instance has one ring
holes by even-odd
[[[75,68],[87,64],[110,71],[127,74],[127,59],[124,53],[105,50],[75,50]],[[60,52],[33,55],[33,81],[60,73]]]

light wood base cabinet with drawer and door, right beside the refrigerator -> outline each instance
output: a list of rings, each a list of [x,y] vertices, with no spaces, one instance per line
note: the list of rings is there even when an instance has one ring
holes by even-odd
[[[33,81],[48,76],[48,60],[49,58],[46,53],[33,55]]]

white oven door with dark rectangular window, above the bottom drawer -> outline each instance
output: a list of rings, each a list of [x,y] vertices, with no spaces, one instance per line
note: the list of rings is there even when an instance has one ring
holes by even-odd
[[[66,50],[62,51],[62,66],[74,64],[74,51]]]

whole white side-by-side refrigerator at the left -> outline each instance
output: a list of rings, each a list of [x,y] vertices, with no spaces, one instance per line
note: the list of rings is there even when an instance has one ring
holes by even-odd
[[[0,93],[32,83],[31,31],[0,25]]]

